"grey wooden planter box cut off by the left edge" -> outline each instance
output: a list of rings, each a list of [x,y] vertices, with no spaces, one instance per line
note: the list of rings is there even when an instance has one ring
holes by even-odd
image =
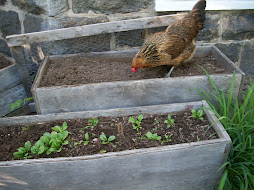
[[[12,62],[12,65],[0,70],[0,117],[9,113],[10,104],[25,98],[15,61],[0,53],[1,57]]]

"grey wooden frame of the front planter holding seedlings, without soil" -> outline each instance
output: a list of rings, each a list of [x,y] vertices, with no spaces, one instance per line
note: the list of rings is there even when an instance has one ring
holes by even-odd
[[[205,101],[20,116],[0,119],[1,125],[59,119],[124,116],[139,113],[172,113],[198,107]],[[1,183],[9,189],[177,189],[206,190],[214,186],[227,160],[231,140],[213,112],[205,110],[218,139],[162,147],[110,152],[91,156],[28,159],[0,162]],[[213,188],[210,188],[213,189]]]

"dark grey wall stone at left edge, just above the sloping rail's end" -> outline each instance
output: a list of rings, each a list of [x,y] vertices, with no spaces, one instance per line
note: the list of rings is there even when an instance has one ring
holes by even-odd
[[[0,18],[0,33],[2,33],[2,37],[21,33],[21,24],[18,13],[14,11],[0,10]]]

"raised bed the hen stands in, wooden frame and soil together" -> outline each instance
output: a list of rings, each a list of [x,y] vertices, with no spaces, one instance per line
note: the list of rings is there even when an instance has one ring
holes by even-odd
[[[131,49],[47,57],[41,64],[32,87],[37,113],[103,110],[198,101],[202,98],[193,88],[212,91],[212,85],[209,84],[205,72],[193,63],[175,69],[172,75],[178,74],[178,76],[170,78],[163,78],[170,69],[167,66],[140,69],[133,74],[130,69],[131,59],[137,51],[137,49]],[[216,70],[215,74],[214,72],[211,74],[211,77],[216,86],[223,91],[229,90],[232,73],[236,71],[234,95],[239,93],[244,73],[218,48],[200,46],[194,55],[195,59],[199,61],[208,59],[210,64],[206,64],[205,61],[205,64],[201,65],[208,72]],[[59,64],[64,61],[75,62],[75,60],[77,60],[77,64],[71,67],[68,64],[66,67]],[[87,69],[85,67],[82,70],[77,67],[81,64],[81,60],[90,62],[87,63],[90,64]],[[95,68],[92,67],[93,63],[96,64]],[[214,63],[220,66],[214,65]],[[117,64],[122,66],[118,67]],[[71,71],[70,68],[74,68],[74,70]],[[59,73],[56,72],[58,69],[65,70],[67,73],[56,75]],[[198,76],[192,76],[195,73]],[[54,79],[52,82],[52,76],[60,80]],[[77,79],[75,76],[81,76],[81,78]],[[98,78],[94,79],[95,76]]]

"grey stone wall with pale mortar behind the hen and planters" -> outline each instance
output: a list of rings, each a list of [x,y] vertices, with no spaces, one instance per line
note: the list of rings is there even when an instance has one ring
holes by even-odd
[[[0,0],[0,52],[11,54],[7,35],[148,17],[156,15],[153,8],[154,0]],[[50,54],[107,51],[140,46],[149,33],[161,29],[102,34],[41,46],[50,49]],[[254,78],[254,10],[207,11],[206,28],[197,41],[216,44]]]

